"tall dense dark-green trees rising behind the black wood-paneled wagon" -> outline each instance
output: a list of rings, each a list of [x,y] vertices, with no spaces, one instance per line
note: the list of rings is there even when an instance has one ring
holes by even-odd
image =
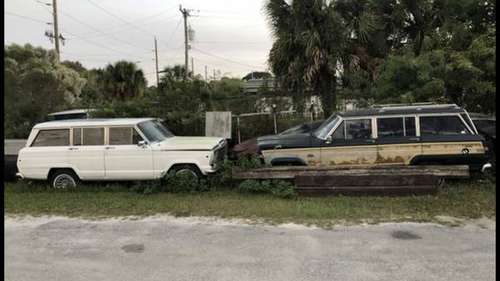
[[[453,102],[495,112],[495,0],[268,0],[273,73],[301,104]]]

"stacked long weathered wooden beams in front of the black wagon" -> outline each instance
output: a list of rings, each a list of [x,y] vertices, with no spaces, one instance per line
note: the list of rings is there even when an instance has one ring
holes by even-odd
[[[435,191],[445,178],[468,178],[468,166],[272,167],[234,171],[233,179],[293,180],[302,194]]]

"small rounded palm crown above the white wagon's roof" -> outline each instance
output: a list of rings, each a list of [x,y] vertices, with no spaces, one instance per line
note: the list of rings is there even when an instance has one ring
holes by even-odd
[[[142,96],[146,87],[144,73],[133,62],[118,61],[114,65],[108,64],[100,72],[100,76],[104,90],[121,100]]]

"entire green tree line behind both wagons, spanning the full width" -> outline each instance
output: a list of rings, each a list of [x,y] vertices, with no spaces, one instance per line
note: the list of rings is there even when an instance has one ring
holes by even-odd
[[[242,94],[242,79],[204,81],[165,67],[158,87],[130,61],[86,69],[53,50],[4,47],[6,137],[24,138],[50,112],[95,108],[98,117],[159,117],[178,134],[203,134],[207,110],[257,111],[262,97],[291,97],[299,111],[319,95],[325,116],[349,99],[453,102],[496,112],[495,1],[268,0],[275,90]],[[270,78],[256,72],[245,78]],[[255,122],[249,126],[258,126]]]

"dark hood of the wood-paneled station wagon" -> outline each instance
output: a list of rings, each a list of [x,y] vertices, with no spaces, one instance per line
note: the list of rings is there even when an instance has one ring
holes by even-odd
[[[259,150],[309,147],[315,141],[311,134],[271,135],[257,138]]]

